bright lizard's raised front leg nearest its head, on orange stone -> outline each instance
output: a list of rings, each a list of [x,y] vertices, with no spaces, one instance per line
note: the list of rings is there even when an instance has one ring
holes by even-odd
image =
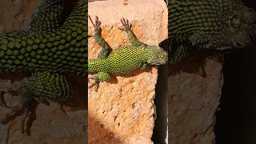
[[[121,19],[122,26],[125,28],[121,29],[124,30],[129,38],[129,41],[132,43],[134,46],[147,46],[145,43],[138,41],[138,38],[135,37],[134,32],[131,30],[131,23],[128,21],[128,19],[122,18]]]

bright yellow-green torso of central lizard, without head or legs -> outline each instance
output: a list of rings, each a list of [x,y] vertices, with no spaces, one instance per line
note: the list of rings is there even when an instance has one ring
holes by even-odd
[[[113,50],[107,58],[90,59],[88,71],[126,74],[146,63],[150,57],[149,51],[143,46],[122,46]]]

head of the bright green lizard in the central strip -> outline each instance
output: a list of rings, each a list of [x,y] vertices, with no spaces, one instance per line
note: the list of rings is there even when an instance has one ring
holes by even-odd
[[[147,63],[150,65],[164,65],[168,60],[168,53],[159,46],[147,46]]]

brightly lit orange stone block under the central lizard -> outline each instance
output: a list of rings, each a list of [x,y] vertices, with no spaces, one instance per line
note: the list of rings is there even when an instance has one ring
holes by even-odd
[[[158,45],[167,36],[167,10],[158,0],[116,0],[89,2],[89,15],[102,22],[102,38],[117,48],[130,44],[120,18],[133,24],[137,38],[146,44]],[[89,35],[93,35],[89,22]],[[100,47],[89,38],[89,58],[96,58]],[[90,76],[90,75],[89,75]],[[154,97],[158,71],[156,68],[136,70],[132,74],[113,75],[110,82],[101,82],[98,92],[88,91],[89,143],[152,143]]]

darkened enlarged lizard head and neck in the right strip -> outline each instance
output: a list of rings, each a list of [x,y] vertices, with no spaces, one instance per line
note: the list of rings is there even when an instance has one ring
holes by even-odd
[[[229,50],[250,43],[254,10],[239,0],[169,0],[169,62],[194,50]]]

